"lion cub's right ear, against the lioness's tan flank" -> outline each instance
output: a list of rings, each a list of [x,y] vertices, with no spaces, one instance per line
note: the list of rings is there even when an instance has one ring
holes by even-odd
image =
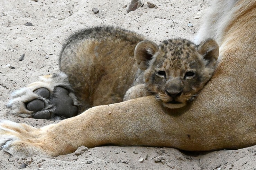
[[[198,46],[198,52],[208,61],[206,67],[215,68],[219,57],[219,46],[213,39],[202,41]]]

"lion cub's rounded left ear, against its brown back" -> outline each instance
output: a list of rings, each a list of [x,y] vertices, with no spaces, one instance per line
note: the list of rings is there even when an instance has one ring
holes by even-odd
[[[134,51],[135,60],[141,70],[148,68],[148,61],[158,51],[158,45],[153,41],[144,40],[137,44]]]

